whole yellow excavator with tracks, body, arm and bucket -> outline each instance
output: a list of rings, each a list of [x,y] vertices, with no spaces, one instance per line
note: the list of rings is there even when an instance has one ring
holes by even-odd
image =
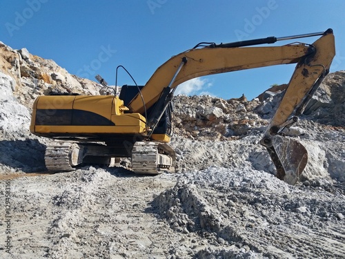
[[[256,46],[276,41],[320,36],[313,44]],[[275,115],[260,143],[277,168],[277,177],[295,184],[304,170],[306,148],[284,137],[284,128],[297,121],[328,74],[335,42],[333,30],[267,37],[229,44],[201,42],[162,64],[145,86],[122,86],[116,95],[51,95],[34,102],[30,131],[59,142],[46,148],[49,171],[72,171],[84,163],[109,164],[115,157],[130,158],[135,173],[157,174],[175,168],[172,136],[172,96],[179,84],[204,75],[295,64]],[[97,75],[103,86],[106,81]]]

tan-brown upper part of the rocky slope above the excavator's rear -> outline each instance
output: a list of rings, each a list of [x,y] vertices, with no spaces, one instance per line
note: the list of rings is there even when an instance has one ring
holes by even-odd
[[[13,50],[0,42],[1,72],[12,77],[12,90],[19,102],[30,108],[39,95],[80,93],[99,95],[94,81],[70,75],[51,59],[31,55],[26,48]]]

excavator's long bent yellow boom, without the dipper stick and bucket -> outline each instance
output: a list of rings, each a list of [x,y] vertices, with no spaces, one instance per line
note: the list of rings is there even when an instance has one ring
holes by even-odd
[[[317,41],[315,41],[314,44],[317,44],[317,49],[328,53],[327,55],[332,57],[335,53],[334,37],[331,30],[327,30],[324,33],[324,37],[328,35],[326,37],[327,40],[322,37],[322,43],[317,43]],[[227,44],[221,44],[219,46],[211,45],[206,48],[193,48],[181,52],[179,55],[170,58],[157,68],[144,88],[141,89],[144,104],[141,96],[138,94],[132,99],[130,104],[128,104],[128,108],[130,108],[130,111],[133,113],[144,113],[144,106],[150,108],[150,106],[155,104],[163,89],[169,85],[170,80],[174,77],[175,71],[184,58],[188,60],[188,63],[181,69],[171,88],[175,88],[189,79],[204,75],[214,75],[279,64],[295,64],[301,61],[302,58],[311,54],[311,46],[314,46],[314,44],[299,43],[286,46],[246,48],[235,48],[233,45],[228,47],[226,46]],[[329,44],[329,46],[326,44]]]

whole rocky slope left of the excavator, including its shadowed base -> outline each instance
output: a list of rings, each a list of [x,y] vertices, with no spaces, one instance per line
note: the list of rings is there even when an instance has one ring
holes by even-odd
[[[70,75],[55,61],[14,50],[0,42],[0,169],[42,171],[50,140],[29,132],[34,99],[51,93],[99,95],[94,81]]]

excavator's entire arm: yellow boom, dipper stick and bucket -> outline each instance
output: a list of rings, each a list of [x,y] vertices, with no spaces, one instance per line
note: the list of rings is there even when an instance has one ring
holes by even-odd
[[[250,47],[257,44],[272,44],[277,40],[317,35],[322,37],[313,44]],[[161,111],[164,111],[172,99],[175,88],[184,81],[204,75],[297,63],[284,97],[260,142],[267,148],[277,168],[277,177],[295,184],[306,166],[307,152],[299,142],[282,137],[281,131],[296,121],[297,117],[290,118],[291,115],[298,116],[303,113],[317,86],[328,74],[334,56],[335,42],[331,29],[308,35],[268,37],[193,48],[170,58],[161,65],[142,88],[141,93],[128,104],[128,108],[132,113],[143,114],[145,109],[159,104],[154,109],[156,114],[148,118],[148,125],[155,127]]]

